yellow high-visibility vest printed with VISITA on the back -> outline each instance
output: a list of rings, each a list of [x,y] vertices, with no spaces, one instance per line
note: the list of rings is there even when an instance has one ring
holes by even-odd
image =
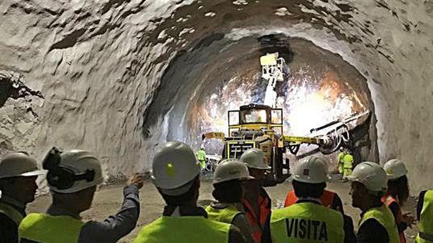
[[[297,203],[271,214],[273,243],[344,242],[343,216],[323,205]]]

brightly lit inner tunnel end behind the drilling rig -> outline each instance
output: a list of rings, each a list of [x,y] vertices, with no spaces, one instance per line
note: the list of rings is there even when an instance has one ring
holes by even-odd
[[[263,104],[268,81],[261,78],[259,57],[275,53],[287,63],[286,79],[278,83],[277,108],[283,108],[283,134],[303,136],[310,129],[367,109],[374,110],[365,77],[341,56],[303,38],[284,34],[231,39],[206,38],[173,58],[155,99],[144,114],[143,135],[180,140],[210,154],[221,154],[222,143],[202,141],[208,132],[229,135],[228,110]],[[161,126],[162,125],[162,126]],[[374,124],[371,124],[374,128]],[[374,140],[375,130],[363,130]],[[365,135],[364,134],[364,135]],[[360,155],[365,160],[369,156]]]

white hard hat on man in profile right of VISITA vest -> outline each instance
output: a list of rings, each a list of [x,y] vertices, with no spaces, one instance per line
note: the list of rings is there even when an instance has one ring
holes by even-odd
[[[375,162],[359,163],[353,169],[352,174],[347,176],[347,179],[362,183],[372,192],[385,192],[388,187],[388,178],[385,170]]]

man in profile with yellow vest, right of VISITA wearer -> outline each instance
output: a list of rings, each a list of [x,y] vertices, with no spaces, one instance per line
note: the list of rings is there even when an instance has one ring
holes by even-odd
[[[382,203],[388,178],[374,162],[359,163],[347,177],[352,184],[352,206],[361,209],[358,243],[400,243],[399,232],[391,210]]]

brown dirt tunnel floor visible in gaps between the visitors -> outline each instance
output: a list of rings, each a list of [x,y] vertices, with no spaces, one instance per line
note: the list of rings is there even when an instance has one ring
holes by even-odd
[[[117,212],[122,204],[123,199],[123,186],[122,184],[105,186],[99,189],[93,200],[92,208],[82,214],[83,220],[103,220],[106,217],[113,215]],[[286,193],[292,189],[289,182],[278,184],[275,187],[266,188],[272,202],[273,208],[279,208],[284,205]],[[357,230],[358,221],[360,219],[360,210],[351,206],[352,199],[349,195],[350,183],[341,183],[338,180],[333,180],[328,184],[327,189],[337,192],[343,202],[345,214],[352,217],[353,225]],[[201,181],[200,185],[200,202],[209,202],[212,197],[212,182],[209,180]],[[36,200],[29,204],[27,207],[28,212],[43,213],[51,203],[51,196],[43,195],[36,198]],[[163,207],[165,206],[162,197],[159,195],[155,186],[151,181],[146,181],[143,188],[140,190],[140,217],[137,222],[137,227],[119,241],[119,243],[130,243],[137,236],[141,227],[151,223],[157,217],[161,216]],[[204,205],[200,205],[204,206]],[[416,202],[414,197],[410,197],[406,205],[403,206],[403,213],[415,212]],[[418,228],[414,226],[412,229],[407,228],[404,232],[406,234],[407,243],[415,243],[415,235]]]

